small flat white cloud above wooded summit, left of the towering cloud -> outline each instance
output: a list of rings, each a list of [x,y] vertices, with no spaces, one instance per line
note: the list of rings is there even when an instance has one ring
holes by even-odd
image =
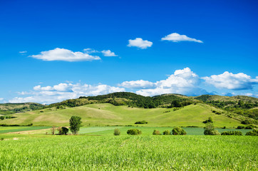
[[[123,83],[118,84],[118,86],[125,87],[125,88],[152,88],[154,83],[150,81],[124,81]]]

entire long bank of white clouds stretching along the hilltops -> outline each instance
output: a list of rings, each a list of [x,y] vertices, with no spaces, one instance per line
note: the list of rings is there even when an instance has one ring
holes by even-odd
[[[200,78],[190,68],[176,70],[165,80],[156,81],[124,81],[117,86],[108,86],[105,84],[88,85],[81,83],[59,83],[54,86],[34,86],[29,92],[21,92],[19,95],[25,97],[15,97],[9,100],[9,103],[56,103],[62,100],[78,98],[80,96],[104,95],[108,93],[130,91],[144,96],[161,95],[166,93],[178,93],[182,95],[203,95],[212,94],[207,92],[203,84],[234,90],[232,93],[222,93],[221,95],[249,95],[258,97],[257,92],[237,92],[239,90],[252,90],[258,83],[258,77],[252,79],[244,73],[225,72],[220,75],[212,75]]]

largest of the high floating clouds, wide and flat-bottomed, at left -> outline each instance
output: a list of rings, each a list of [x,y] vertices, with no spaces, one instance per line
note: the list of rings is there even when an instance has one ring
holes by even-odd
[[[82,53],[80,51],[73,52],[65,48],[55,48],[50,51],[42,51],[38,55],[30,56],[32,58],[41,59],[43,61],[93,61],[100,60],[99,56],[91,56],[88,53]]]

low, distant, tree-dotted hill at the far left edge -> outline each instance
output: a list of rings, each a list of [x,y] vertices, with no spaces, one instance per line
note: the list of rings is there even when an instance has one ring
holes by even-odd
[[[44,106],[39,103],[0,103],[0,115],[38,110]]]

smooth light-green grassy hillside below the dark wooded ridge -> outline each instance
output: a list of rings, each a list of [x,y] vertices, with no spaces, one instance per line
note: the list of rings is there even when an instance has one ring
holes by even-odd
[[[144,126],[200,126],[203,120],[212,117],[216,127],[233,127],[241,125],[238,120],[227,118],[225,115],[215,115],[212,107],[205,104],[188,105],[180,110],[172,111],[167,108],[128,108],[127,106],[115,106],[108,103],[84,105],[76,108],[56,110],[54,108],[34,110],[28,113],[16,113],[9,120],[0,120],[0,124],[26,125],[68,125],[72,115],[81,116],[83,125],[134,125],[136,121],[146,120]],[[170,110],[170,113],[164,113]]]

